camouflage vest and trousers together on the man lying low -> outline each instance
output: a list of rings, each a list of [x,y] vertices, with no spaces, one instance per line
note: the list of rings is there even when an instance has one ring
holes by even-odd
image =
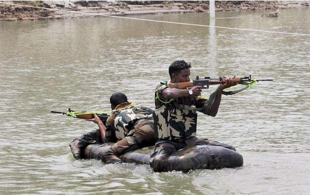
[[[103,155],[104,163],[122,163],[120,155],[155,144],[153,110],[125,102],[116,106],[106,122],[106,142],[115,143]]]

